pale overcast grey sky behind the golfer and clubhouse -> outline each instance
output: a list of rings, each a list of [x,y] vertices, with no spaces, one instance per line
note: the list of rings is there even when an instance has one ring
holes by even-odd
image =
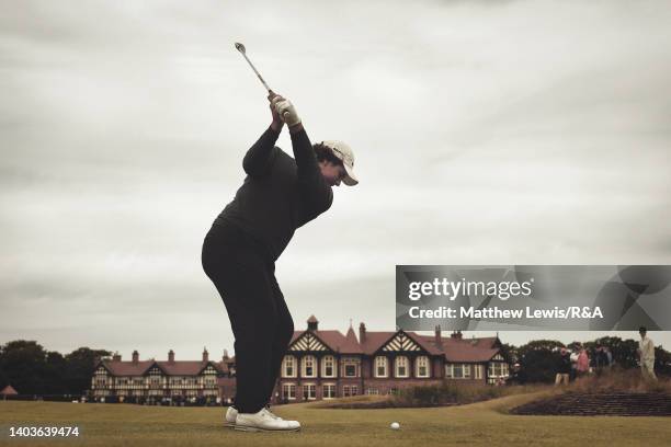
[[[0,0],[0,343],[232,352],[201,247],[270,124],[234,42],[356,156],[277,262],[297,329],[394,330],[396,264],[671,263],[669,2]]]

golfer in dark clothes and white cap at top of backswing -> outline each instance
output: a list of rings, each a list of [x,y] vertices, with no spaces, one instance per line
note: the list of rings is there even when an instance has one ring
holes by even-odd
[[[236,429],[297,431],[269,401],[294,322],[275,279],[275,261],[294,231],[331,207],[333,185],[359,183],[354,154],[341,141],[311,145],[294,105],[270,91],[272,124],[247,151],[247,177],[203,242],[202,263],[216,286],[235,335],[235,402],[226,425]],[[287,124],[294,158],[274,144]]]

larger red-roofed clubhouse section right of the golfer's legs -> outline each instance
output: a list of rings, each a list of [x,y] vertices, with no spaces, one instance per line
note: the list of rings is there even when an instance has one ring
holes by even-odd
[[[509,377],[498,336],[464,339],[460,332],[434,335],[366,331],[359,339],[320,330],[311,316],[305,331],[295,331],[282,363],[272,401],[288,403],[357,394],[388,394],[418,385],[496,385]]]

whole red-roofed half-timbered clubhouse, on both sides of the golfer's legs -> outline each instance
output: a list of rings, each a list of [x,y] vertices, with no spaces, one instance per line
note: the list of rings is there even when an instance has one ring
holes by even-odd
[[[226,351],[219,362],[201,360],[122,362],[120,355],[101,359],[91,382],[91,394],[100,397],[194,398],[212,397],[229,402],[235,396],[235,357]],[[295,331],[282,363],[272,403],[332,399],[356,394],[386,394],[414,385],[496,383],[508,377],[508,364],[498,336],[467,339],[460,332],[443,337],[409,331],[367,331],[359,337],[350,324],[343,335],[320,330],[311,316],[307,329]]]

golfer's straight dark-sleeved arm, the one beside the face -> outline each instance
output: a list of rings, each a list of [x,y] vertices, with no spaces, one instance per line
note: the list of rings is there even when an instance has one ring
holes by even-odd
[[[312,144],[303,125],[289,128],[292,148],[296,160],[298,185],[317,210],[328,209],[333,202],[333,191],[323,180],[317,163]]]

